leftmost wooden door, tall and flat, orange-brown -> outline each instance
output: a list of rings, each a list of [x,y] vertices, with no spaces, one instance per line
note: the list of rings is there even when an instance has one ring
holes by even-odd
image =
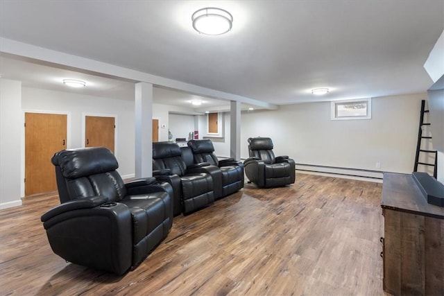
[[[66,114],[25,113],[25,195],[57,189],[51,157],[66,147]]]

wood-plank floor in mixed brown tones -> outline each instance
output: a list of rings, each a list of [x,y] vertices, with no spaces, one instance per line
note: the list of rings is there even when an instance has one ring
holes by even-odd
[[[118,277],[53,254],[40,216],[56,193],[0,211],[1,295],[384,295],[382,184],[298,174],[189,216]]]

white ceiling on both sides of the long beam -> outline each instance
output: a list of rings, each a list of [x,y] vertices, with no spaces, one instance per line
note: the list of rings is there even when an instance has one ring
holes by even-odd
[[[208,6],[231,12],[232,31],[193,30],[192,13]],[[423,64],[443,30],[444,0],[0,1],[3,38],[277,105],[425,92]],[[59,90],[56,78],[78,78],[89,82],[78,92],[134,97],[134,82],[49,66],[3,55],[0,73]],[[314,97],[316,87],[330,93]],[[155,92],[164,103],[191,100]]]

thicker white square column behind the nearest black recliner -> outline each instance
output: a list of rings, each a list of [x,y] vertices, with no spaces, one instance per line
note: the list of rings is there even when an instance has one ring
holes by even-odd
[[[135,177],[153,175],[153,85],[135,85]]]

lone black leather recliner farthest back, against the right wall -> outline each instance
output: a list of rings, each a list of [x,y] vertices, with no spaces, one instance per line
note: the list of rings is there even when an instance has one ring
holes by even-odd
[[[294,160],[287,155],[275,157],[270,138],[249,138],[248,153],[250,157],[244,161],[245,174],[257,186],[269,188],[294,183]]]

